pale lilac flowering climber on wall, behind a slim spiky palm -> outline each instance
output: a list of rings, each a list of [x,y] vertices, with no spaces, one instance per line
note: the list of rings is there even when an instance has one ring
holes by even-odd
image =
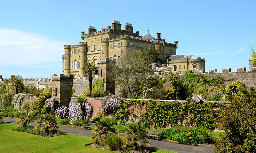
[[[85,107],[86,110],[85,119],[89,119],[92,113],[92,105],[90,103],[85,103],[82,105]],[[74,100],[69,103],[68,119],[71,122],[84,119],[84,115],[82,114],[80,104],[76,103]]]

